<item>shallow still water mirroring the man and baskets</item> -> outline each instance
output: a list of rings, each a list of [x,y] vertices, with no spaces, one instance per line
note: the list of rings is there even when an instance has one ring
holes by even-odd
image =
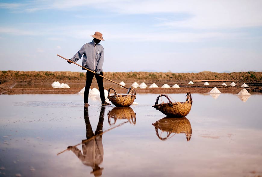
[[[262,175],[262,95],[192,94],[182,119],[153,109],[157,97],[84,109],[76,94],[0,95],[0,176]]]

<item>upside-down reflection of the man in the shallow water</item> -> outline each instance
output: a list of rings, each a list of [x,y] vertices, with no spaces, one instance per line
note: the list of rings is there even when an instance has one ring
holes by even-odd
[[[68,146],[67,150],[73,151],[76,156],[82,161],[84,165],[91,166],[95,176],[101,176],[103,168],[98,165],[103,162],[104,148],[102,144],[103,122],[104,122],[105,107],[101,107],[98,125],[93,133],[91,124],[89,122],[88,107],[84,108],[85,122],[86,122],[86,140],[82,140],[82,152],[73,146]]]

